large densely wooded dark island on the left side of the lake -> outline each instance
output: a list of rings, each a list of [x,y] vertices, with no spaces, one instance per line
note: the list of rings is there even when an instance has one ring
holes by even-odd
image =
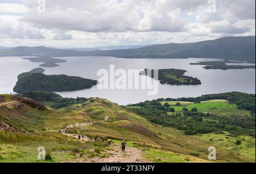
[[[77,91],[91,88],[97,84],[97,80],[68,75],[45,75],[43,72],[44,69],[37,68],[18,75],[14,92],[23,94],[33,91]]]

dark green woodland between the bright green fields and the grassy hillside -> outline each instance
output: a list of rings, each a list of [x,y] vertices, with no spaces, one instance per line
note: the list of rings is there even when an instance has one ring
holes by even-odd
[[[233,135],[246,134],[255,137],[255,117],[216,116],[200,113],[196,108],[192,108],[191,111],[183,108],[182,114],[168,115],[167,112],[173,108],[164,107],[156,100],[140,103],[138,107],[129,109],[155,124],[183,130],[187,135],[228,131]]]

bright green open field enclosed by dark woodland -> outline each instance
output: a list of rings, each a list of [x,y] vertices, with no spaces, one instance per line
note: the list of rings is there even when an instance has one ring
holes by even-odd
[[[176,106],[176,103],[179,102],[181,106]],[[172,108],[175,109],[175,112],[182,112],[183,108],[197,108],[200,112],[209,112],[210,114],[216,114],[220,116],[246,116],[250,115],[249,111],[237,109],[236,104],[230,104],[227,100],[209,100],[203,101],[201,103],[191,103],[187,101],[168,101],[161,102],[162,104],[168,103]],[[170,113],[171,114],[171,113]]]

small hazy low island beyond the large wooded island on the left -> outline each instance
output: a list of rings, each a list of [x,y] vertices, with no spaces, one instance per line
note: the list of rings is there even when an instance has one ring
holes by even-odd
[[[60,66],[57,63],[67,62],[65,60],[59,58],[52,58],[52,57],[30,57],[30,58],[23,58],[24,60],[29,60],[31,62],[42,62],[43,64],[39,65],[40,67],[56,67]]]

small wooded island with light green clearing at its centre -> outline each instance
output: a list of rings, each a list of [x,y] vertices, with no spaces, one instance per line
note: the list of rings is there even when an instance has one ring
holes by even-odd
[[[148,72],[151,71],[151,78],[154,77],[154,70],[145,69],[144,71],[141,71],[141,75],[147,75]],[[201,84],[201,81],[197,78],[188,77],[184,74],[186,73],[186,70],[179,70],[179,69],[162,69],[158,70],[158,79],[161,84],[170,84],[170,85],[198,85]]]

